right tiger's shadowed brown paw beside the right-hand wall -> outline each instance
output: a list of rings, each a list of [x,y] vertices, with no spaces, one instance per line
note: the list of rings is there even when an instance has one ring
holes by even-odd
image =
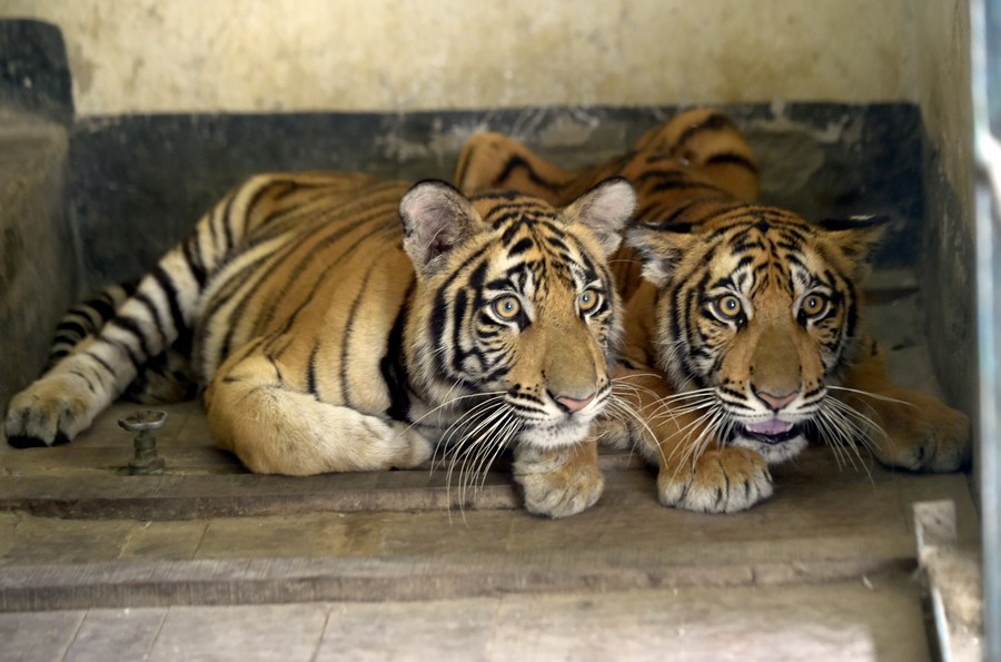
[[[914,399],[914,406],[894,411],[892,418],[882,422],[883,429],[872,435],[880,462],[929,472],[953,472],[968,466],[973,437],[970,418],[936,399]]]

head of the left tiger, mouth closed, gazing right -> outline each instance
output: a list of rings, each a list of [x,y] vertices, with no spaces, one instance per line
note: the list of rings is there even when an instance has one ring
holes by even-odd
[[[403,198],[417,274],[410,381],[427,404],[455,405],[456,438],[583,441],[612,391],[622,314],[606,256],[634,207],[625,179],[558,210],[522,194],[466,198],[440,181]]]

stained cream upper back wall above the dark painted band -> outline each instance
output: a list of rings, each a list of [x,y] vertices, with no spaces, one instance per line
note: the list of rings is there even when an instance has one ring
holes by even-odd
[[[6,0],[77,111],[915,100],[914,0]]]

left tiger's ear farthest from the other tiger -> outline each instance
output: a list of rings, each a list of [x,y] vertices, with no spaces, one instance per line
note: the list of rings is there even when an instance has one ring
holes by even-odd
[[[399,201],[404,250],[418,274],[435,270],[442,255],[476,233],[482,221],[469,200],[440,179],[418,181]]]

